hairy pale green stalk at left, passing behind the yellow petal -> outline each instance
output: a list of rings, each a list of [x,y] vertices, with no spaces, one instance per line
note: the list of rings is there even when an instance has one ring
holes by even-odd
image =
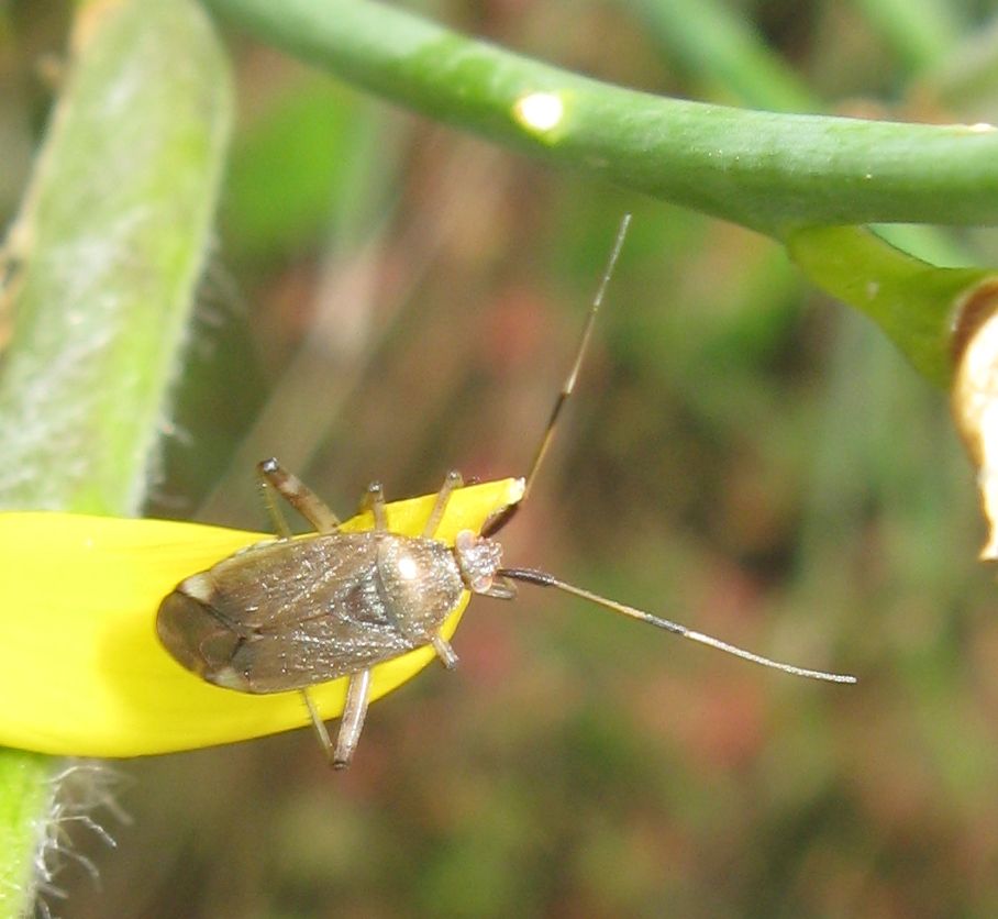
[[[210,244],[229,75],[187,0],[81,4],[71,58],[3,250],[0,507],[135,513]],[[57,766],[0,751],[0,917],[30,911]]]

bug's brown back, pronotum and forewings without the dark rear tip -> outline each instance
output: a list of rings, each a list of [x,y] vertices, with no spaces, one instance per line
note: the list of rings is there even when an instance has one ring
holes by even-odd
[[[431,576],[400,578],[400,555]],[[278,542],[233,556],[200,576],[210,580],[212,618],[224,623],[204,675],[242,691],[278,693],[426,644],[462,593],[456,569],[432,576],[442,563],[454,564],[445,546],[386,533]]]

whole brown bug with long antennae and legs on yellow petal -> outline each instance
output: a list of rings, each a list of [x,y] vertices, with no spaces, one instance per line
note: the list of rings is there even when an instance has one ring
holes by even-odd
[[[589,308],[572,369],[555,401],[526,476],[522,497],[486,522],[480,533],[465,530],[453,546],[435,539],[455,489],[447,474],[422,535],[388,530],[381,486],[369,486],[364,508],[374,529],[339,532],[336,516],[277,460],[257,466],[277,539],[251,546],[212,568],[182,580],[159,606],[156,628],[170,654],[209,683],[240,693],[298,690],[319,741],[336,768],[350,765],[367,713],[372,667],[431,645],[446,667],[457,655],[440,634],[466,590],[502,600],[515,583],[554,587],[614,612],[640,619],[683,638],[796,676],[833,683],[855,677],[777,663],[687,629],[644,610],[600,597],[535,568],[506,568],[494,539],[522,506],[536,478],[562,410],[592,335],[597,313],[630,222],[623,219],[606,270]],[[315,530],[292,539],[273,492],[288,501]],[[346,705],[335,745],[309,687],[348,677]]]

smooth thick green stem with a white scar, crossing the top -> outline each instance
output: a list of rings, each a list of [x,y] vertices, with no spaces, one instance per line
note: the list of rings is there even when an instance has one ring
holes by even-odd
[[[600,84],[373,0],[206,0],[432,118],[781,237],[812,224],[998,223],[998,131],[745,111]],[[529,130],[528,93],[564,117]]]

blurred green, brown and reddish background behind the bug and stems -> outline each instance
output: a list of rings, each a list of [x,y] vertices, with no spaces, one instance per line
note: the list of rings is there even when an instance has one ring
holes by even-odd
[[[744,100],[664,2],[421,5],[617,82]],[[993,3],[727,9],[816,108],[998,120],[998,80],[954,76],[973,49],[995,54]],[[69,14],[0,13],[4,222]],[[262,527],[253,464],[271,454],[343,514],[373,478],[402,497],[451,467],[522,474],[631,210],[507,561],[860,684],[767,672],[530,588],[479,598],[461,667],[375,705],[348,774],[308,731],[111,764],[129,819],[91,816],[118,846],[77,827],[99,879],[65,860],[52,910],[998,915],[998,619],[945,394],[765,239],[229,37],[231,173],[148,512]],[[994,234],[949,240],[998,261]]]

